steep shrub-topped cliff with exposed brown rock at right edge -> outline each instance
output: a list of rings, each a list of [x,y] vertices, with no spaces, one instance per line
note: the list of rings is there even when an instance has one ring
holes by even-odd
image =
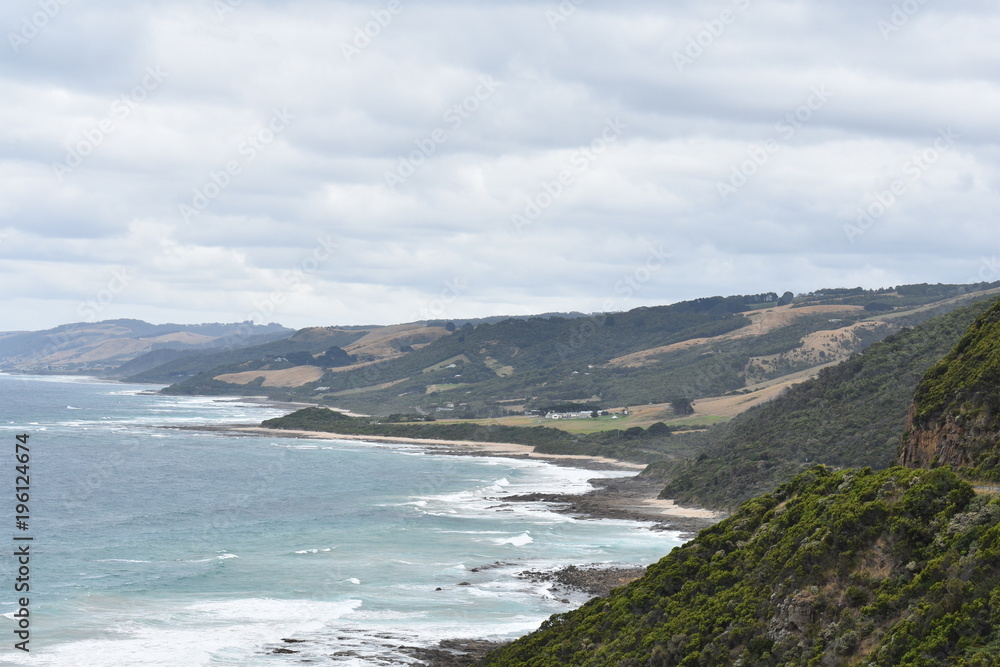
[[[1000,302],[921,380],[899,463],[1000,479]]]

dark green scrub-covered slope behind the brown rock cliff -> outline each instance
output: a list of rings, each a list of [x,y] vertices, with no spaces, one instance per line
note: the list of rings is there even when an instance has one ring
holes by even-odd
[[[654,464],[681,503],[731,508],[816,463],[885,468],[895,460],[914,389],[989,302],[904,330],[773,401],[693,438],[697,460]]]

